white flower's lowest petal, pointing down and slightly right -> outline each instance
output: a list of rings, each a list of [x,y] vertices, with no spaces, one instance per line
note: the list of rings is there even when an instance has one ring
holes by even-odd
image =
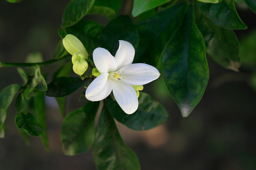
[[[134,113],[139,105],[134,88],[125,82],[110,80],[113,82],[113,94],[119,106],[127,114]]]

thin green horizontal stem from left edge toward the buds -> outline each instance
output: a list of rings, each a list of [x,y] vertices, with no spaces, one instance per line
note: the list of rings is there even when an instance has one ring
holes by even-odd
[[[67,56],[64,56],[60,59],[52,59],[52,60],[48,60],[48,61],[40,62],[40,63],[5,63],[5,62],[0,61],[0,68],[1,67],[31,67],[31,66],[36,66],[36,65],[47,66],[47,65],[50,65],[52,63],[56,63],[59,60],[63,60],[67,57],[70,57],[70,56],[67,55]]]

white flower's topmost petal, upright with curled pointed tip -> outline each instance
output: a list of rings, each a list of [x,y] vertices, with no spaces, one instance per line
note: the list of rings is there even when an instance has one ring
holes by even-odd
[[[117,61],[117,70],[128,64],[132,64],[134,55],[135,50],[132,44],[127,41],[119,40],[119,48],[115,55],[115,59]]]

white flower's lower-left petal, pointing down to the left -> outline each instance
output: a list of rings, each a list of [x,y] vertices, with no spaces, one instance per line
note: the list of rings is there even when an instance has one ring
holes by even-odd
[[[108,97],[112,91],[112,81],[109,73],[99,75],[87,88],[86,98],[91,101],[100,101]]]

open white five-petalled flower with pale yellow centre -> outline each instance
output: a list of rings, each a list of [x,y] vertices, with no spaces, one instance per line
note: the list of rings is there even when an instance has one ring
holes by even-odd
[[[86,98],[100,101],[108,97],[113,90],[119,106],[127,114],[138,109],[138,98],[131,85],[144,85],[160,75],[153,66],[136,63],[132,64],[135,50],[127,41],[119,40],[119,48],[115,57],[104,48],[97,48],[93,52],[93,60],[99,75],[87,88]]]

